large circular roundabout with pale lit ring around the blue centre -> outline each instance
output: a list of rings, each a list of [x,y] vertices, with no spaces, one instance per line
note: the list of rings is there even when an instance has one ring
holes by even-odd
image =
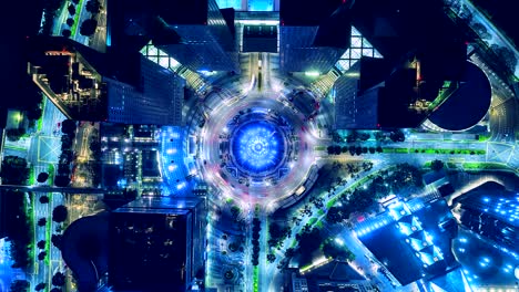
[[[306,131],[304,115],[281,96],[269,92],[222,102],[212,101],[214,94],[204,101],[217,104],[201,129],[199,167],[222,199],[274,208],[308,178],[317,142]]]

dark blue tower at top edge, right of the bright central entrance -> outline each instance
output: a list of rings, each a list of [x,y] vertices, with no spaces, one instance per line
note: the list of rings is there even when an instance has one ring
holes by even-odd
[[[279,69],[328,72],[349,48],[348,7],[342,0],[284,0],[279,6]]]

